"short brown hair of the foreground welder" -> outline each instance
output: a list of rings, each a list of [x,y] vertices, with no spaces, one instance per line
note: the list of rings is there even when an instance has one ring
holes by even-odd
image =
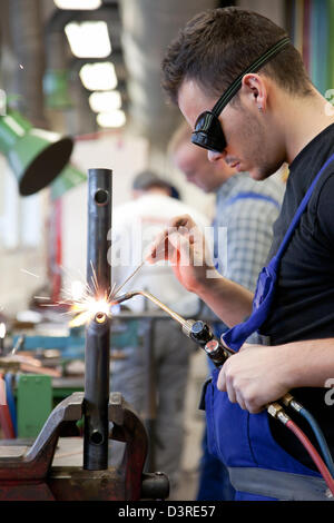
[[[175,103],[184,80],[195,80],[206,95],[219,97],[284,37],[284,29],[256,12],[234,7],[204,11],[188,21],[168,47],[163,61],[163,88]],[[312,92],[302,57],[292,43],[261,71],[291,93]]]

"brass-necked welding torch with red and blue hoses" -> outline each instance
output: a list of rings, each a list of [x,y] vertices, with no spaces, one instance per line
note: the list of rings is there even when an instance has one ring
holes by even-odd
[[[156,298],[155,296],[153,296],[150,293],[146,290],[132,290],[132,292],[122,294],[112,300],[112,305],[121,304],[132,298],[134,296],[138,296],[138,295],[150,299],[158,307],[165,310],[173,319],[175,319],[178,324],[180,324],[183,332],[205,351],[205,353],[208,355],[208,357],[212,359],[212,362],[215,364],[217,368],[220,368],[228,357],[236,354],[234,351],[227,347],[224,343],[222,343],[222,339],[219,341],[214,336],[210,327],[205,322],[200,319],[195,320],[195,319],[184,318],[183,316],[177,314],[175,310],[170,309],[167,305],[165,305],[163,302],[160,302],[158,298]],[[313,430],[313,433],[317,440],[317,443],[324,456],[325,463],[320,456],[320,454],[317,453],[317,451],[315,450],[315,447],[312,445],[307,436],[286,414],[283,406],[278,403],[278,401],[267,404],[265,406],[268,414],[273,416],[275,420],[278,420],[281,423],[283,423],[283,425],[285,425],[289,431],[292,431],[295,434],[295,436],[301,441],[305,450],[311,455],[317,470],[324,477],[332,495],[334,495],[334,463],[332,460],[330,448],[325,441],[325,437],[317,422],[311,415],[311,413],[306,411],[306,408],[303,405],[301,405],[289,393],[285,394],[282,398],[279,398],[279,402],[282,402],[285,406],[288,406],[293,408],[294,411],[296,411],[298,414],[301,414],[304,417],[304,420],[308,422],[308,425]]]

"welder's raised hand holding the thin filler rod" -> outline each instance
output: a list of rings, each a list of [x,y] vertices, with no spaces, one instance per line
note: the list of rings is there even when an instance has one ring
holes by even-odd
[[[151,264],[168,259],[180,284],[196,294],[207,285],[208,272],[216,274],[205,237],[188,215],[177,216],[169,223],[146,259]]]

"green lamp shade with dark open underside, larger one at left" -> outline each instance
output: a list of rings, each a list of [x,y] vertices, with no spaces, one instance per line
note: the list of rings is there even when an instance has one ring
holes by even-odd
[[[17,177],[22,196],[47,187],[68,164],[72,148],[70,137],[36,129],[17,111],[0,117],[0,151]]]

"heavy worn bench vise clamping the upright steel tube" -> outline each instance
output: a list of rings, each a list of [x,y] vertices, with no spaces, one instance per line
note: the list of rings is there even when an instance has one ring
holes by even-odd
[[[52,466],[59,435],[81,420],[85,393],[73,393],[52,411],[31,447],[0,442],[0,501],[137,501],[166,499],[163,473],[143,474],[148,437],[119,393],[109,397],[109,438],[126,444],[121,464],[101,471]]]

